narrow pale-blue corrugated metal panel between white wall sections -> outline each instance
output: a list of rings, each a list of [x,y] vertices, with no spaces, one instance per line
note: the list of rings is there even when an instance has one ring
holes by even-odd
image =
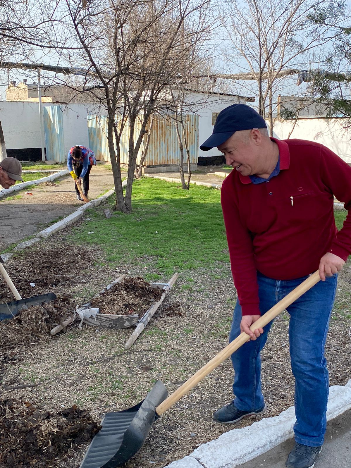
[[[60,106],[44,106],[44,133],[46,159],[65,162],[65,142],[63,135],[63,118]]]

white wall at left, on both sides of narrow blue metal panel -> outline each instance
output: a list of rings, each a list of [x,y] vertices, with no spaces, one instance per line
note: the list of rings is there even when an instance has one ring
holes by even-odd
[[[43,103],[43,106],[50,105],[55,104]],[[65,153],[74,145],[88,146],[88,113],[97,112],[94,104],[60,104],[60,109],[63,112]],[[37,102],[0,102],[0,121],[7,149],[41,147]]]

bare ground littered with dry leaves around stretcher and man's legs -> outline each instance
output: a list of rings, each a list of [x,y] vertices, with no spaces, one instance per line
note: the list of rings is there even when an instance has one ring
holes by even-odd
[[[90,256],[88,253],[84,256],[79,274],[73,271],[70,260],[75,252],[74,245],[69,242],[70,229],[9,260],[7,270],[10,276],[17,274],[16,283],[23,290],[29,283],[26,267],[32,261],[38,265],[38,275],[43,271],[42,281],[35,278],[38,286],[31,289],[32,294],[45,289],[58,296],[68,293],[77,304],[92,297],[121,273],[134,277],[159,273],[153,267],[144,266],[142,259],[138,265],[120,264],[112,269],[106,264],[102,251],[95,249]],[[66,252],[66,256],[60,258],[62,283],[52,277],[55,264],[49,268],[44,263],[40,268],[41,259],[43,262],[55,259],[57,250]],[[23,265],[22,270],[20,265]],[[105,412],[126,409],[141,401],[157,379],[163,381],[170,394],[227,345],[236,297],[227,263],[214,267],[211,272],[191,271],[192,288],[184,289],[188,275],[189,272],[180,275],[129,351],[124,351],[124,343],[132,329],[83,325],[80,330],[76,321],[55,337],[48,336],[45,341],[26,343],[7,352],[7,359],[0,362],[3,398],[25,400],[51,412],[76,404],[100,421]],[[351,266],[346,265],[340,275],[326,349],[330,385],[345,385],[350,379],[350,368],[345,364],[351,360],[347,315],[350,282]],[[2,286],[0,284],[0,289]],[[288,324],[285,314],[276,319],[262,353],[263,392],[268,407],[264,417],[275,416],[293,404]],[[200,444],[231,430],[232,426],[215,423],[212,413],[231,400],[232,378],[233,369],[227,359],[155,422],[144,446],[126,468],[165,467]],[[35,386],[18,388],[23,385]],[[246,418],[237,427],[252,424],[261,417]],[[87,447],[88,442],[73,446],[69,460],[61,461],[64,465],[52,466],[77,468]]]

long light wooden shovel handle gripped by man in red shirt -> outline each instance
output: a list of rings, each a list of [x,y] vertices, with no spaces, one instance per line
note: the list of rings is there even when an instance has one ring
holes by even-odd
[[[289,292],[283,298],[273,306],[268,312],[262,315],[255,323],[253,323],[250,327],[250,330],[256,330],[257,328],[264,327],[267,323],[271,322],[280,312],[282,312],[286,307],[289,307],[292,302],[298,299],[302,294],[306,291],[311,289],[312,286],[318,283],[320,280],[319,271],[315,271],[311,276],[309,276],[305,281],[303,281],[299,286],[297,286],[292,292]],[[183,383],[183,385],[175,392],[166,398],[157,408],[156,413],[161,416],[162,413],[167,411],[172,405],[174,405],[178,400],[182,398],[183,395],[186,395],[191,388],[195,387],[195,385],[202,380],[207,374],[209,374],[213,369],[215,369],[221,362],[227,359],[231,354],[234,353],[240,346],[244,343],[249,341],[249,335],[245,332],[242,332],[237,338],[235,338],[232,343],[229,343],[222,351],[217,354],[214,358],[211,359],[210,362],[205,364],[205,366],[201,367],[196,374],[190,377],[189,380]]]

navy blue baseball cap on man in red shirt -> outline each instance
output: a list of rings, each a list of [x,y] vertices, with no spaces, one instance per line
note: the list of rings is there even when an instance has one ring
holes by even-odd
[[[219,112],[212,135],[200,146],[200,149],[208,151],[227,141],[238,130],[253,128],[267,128],[263,117],[246,104],[233,104]]]

